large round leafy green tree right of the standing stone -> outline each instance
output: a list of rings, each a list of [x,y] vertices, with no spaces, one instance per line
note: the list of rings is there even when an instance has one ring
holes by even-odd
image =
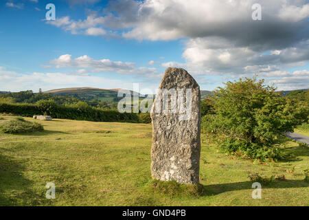
[[[216,116],[208,125],[225,136],[221,146],[227,153],[279,158],[278,137],[300,123],[293,103],[256,77],[225,83],[212,100]]]

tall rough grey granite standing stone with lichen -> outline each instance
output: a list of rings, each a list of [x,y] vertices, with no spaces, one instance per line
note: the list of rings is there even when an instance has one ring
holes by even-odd
[[[185,69],[169,67],[165,70],[159,89],[177,91],[177,111],[173,111],[171,106],[175,102],[171,100],[173,96],[169,95],[168,111],[163,113],[163,95],[158,91],[150,114],[152,178],[161,181],[175,180],[181,184],[198,184],[201,155],[200,87]],[[187,95],[186,89],[192,91],[192,111],[189,118],[183,118],[183,111],[179,111],[181,104],[190,101],[187,96],[181,99],[183,96],[180,91],[183,90],[183,94]]]

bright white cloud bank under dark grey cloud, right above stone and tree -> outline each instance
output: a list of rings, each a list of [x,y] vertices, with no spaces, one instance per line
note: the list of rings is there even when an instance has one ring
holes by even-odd
[[[244,74],[261,72],[265,67],[293,65],[309,60],[309,41],[300,41],[283,50],[268,53],[255,51],[250,46],[237,46],[218,37],[190,39],[183,58],[187,65],[208,69],[214,74]],[[253,67],[260,67],[253,68]]]

